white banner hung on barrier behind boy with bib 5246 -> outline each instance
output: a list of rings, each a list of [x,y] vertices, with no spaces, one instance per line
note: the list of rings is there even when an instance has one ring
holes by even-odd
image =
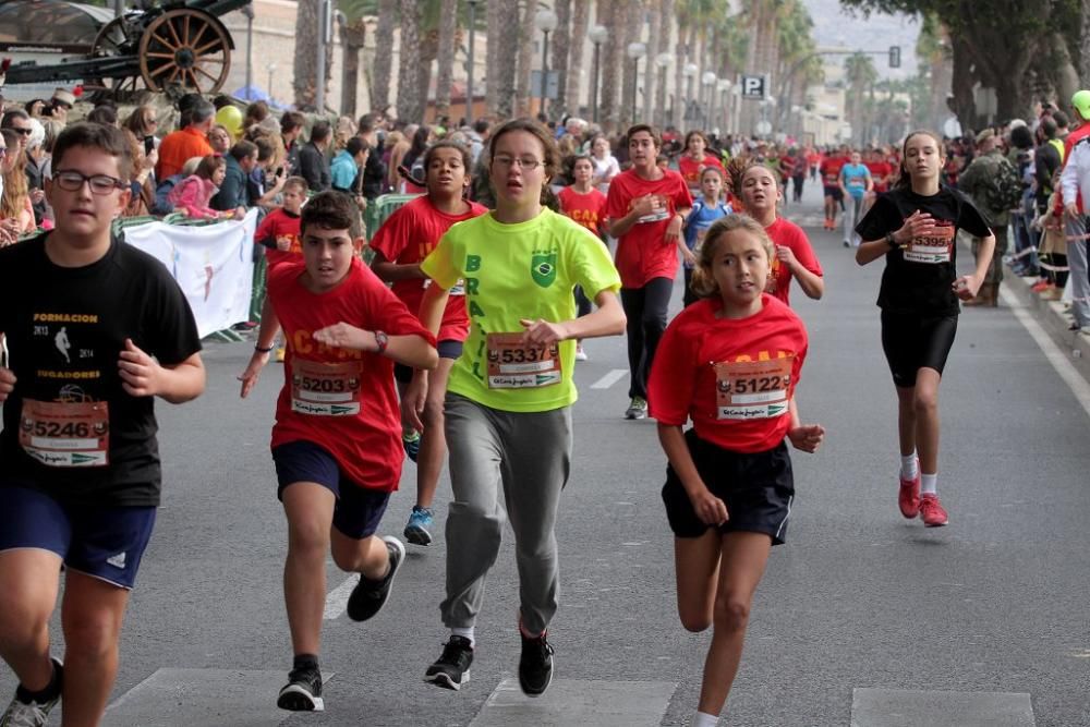
[[[125,242],[170,270],[193,308],[201,338],[250,317],[257,210],[205,227],[148,222],[126,228]]]

